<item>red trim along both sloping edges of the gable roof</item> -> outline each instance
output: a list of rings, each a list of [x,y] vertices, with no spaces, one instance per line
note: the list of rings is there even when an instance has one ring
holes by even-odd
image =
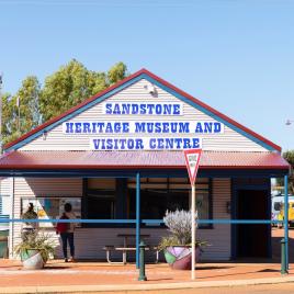
[[[140,69],[139,71],[136,71],[135,74],[133,74],[133,75],[128,76],[127,78],[125,78],[125,79],[118,81],[117,83],[115,83],[115,84],[111,86],[110,88],[108,88],[108,89],[101,91],[100,93],[98,93],[98,94],[95,94],[95,95],[93,95],[93,97],[91,97],[91,98],[84,100],[82,103],[78,104],[77,106],[75,106],[75,108],[72,108],[72,109],[70,109],[70,110],[68,110],[67,112],[65,112],[65,113],[63,113],[63,114],[60,114],[60,115],[58,115],[58,116],[56,116],[56,117],[54,117],[54,118],[52,118],[52,120],[45,122],[44,124],[42,124],[42,125],[37,126],[36,128],[30,131],[29,133],[22,135],[20,138],[18,138],[18,139],[13,140],[13,142],[11,142],[11,143],[4,145],[3,148],[4,148],[4,149],[8,149],[8,148],[12,147],[13,145],[15,145],[15,144],[18,144],[18,143],[24,140],[24,139],[26,139],[26,138],[30,137],[31,135],[33,135],[33,134],[35,134],[35,133],[42,131],[42,129],[45,128],[46,126],[48,126],[48,125],[50,125],[50,124],[53,124],[53,123],[55,123],[55,122],[61,120],[61,118],[65,117],[66,115],[71,114],[72,112],[75,112],[75,111],[77,111],[78,109],[84,106],[86,104],[92,102],[93,100],[95,100],[95,99],[102,97],[103,94],[106,94],[108,92],[114,90],[115,88],[118,88],[120,86],[124,84],[125,82],[127,82],[127,81],[129,81],[129,80],[132,80],[132,79],[138,77],[139,75],[143,75],[143,74],[145,74],[145,75],[151,77],[152,79],[157,80],[158,82],[162,83],[163,86],[166,86],[166,87],[172,89],[173,91],[178,92],[179,94],[183,95],[184,98],[186,98],[186,99],[191,100],[192,102],[194,102],[194,103],[201,105],[202,108],[208,110],[210,112],[214,113],[215,115],[222,117],[223,120],[227,121],[228,123],[235,125],[236,127],[238,127],[238,128],[242,129],[244,132],[246,132],[246,133],[252,135],[253,137],[258,138],[259,140],[265,143],[267,145],[273,147],[274,149],[276,149],[278,151],[281,152],[282,148],[281,148],[279,145],[272,143],[271,140],[269,140],[269,139],[262,137],[261,135],[257,134],[256,132],[251,131],[250,128],[248,128],[248,127],[246,127],[246,126],[244,126],[244,125],[237,123],[236,121],[229,118],[227,115],[225,115],[225,114],[218,112],[217,110],[211,108],[210,105],[203,103],[203,102],[200,101],[199,99],[196,99],[196,98],[190,95],[189,93],[182,91],[181,89],[179,89],[179,88],[177,88],[176,86],[169,83],[168,81],[166,81],[166,80],[159,78],[158,76],[154,75],[152,72],[148,71],[148,70],[145,69],[145,68]]]

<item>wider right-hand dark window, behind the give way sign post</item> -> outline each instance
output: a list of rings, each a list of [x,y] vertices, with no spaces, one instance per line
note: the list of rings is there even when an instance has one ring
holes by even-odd
[[[136,180],[127,182],[128,218],[136,218]],[[191,204],[191,185],[186,178],[143,178],[140,180],[140,215],[144,219],[161,219],[166,211],[189,210]],[[210,180],[196,181],[196,207],[199,217],[211,218]],[[211,227],[203,224],[201,227]]]

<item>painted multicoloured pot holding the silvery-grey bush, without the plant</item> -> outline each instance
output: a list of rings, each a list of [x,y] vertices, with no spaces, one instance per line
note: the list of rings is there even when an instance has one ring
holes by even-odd
[[[200,260],[200,247],[195,248],[195,262]],[[174,270],[191,270],[192,250],[188,246],[171,246],[165,250],[167,262]]]

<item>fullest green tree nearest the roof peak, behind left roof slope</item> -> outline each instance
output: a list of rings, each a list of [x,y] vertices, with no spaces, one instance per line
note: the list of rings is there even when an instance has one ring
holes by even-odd
[[[126,66],[118,63],[109,72],[88,70],[76,59],[47,77],[39,100],[43,122],[126,77]]]

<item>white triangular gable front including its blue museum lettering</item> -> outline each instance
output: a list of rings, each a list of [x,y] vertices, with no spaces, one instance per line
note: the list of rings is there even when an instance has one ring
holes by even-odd
[[[44,135],[39,135],[34,140],[22,146],[20,150],[93,150],[93,139],[111,138],[142,138],[145,143],[144,149],[150,149],[148,139],[146,140],[148,137],[180,137],[199,138],[199,147],[202,147],[203,150],[268,151],[267,148],[233,129],[228,124],[205,114],[159,87],[154,87],[156,94],[151,94],[148,91],[150,87],[154,86],[148,80],[142,79],[82,113],[75,115],[72,118],[60,123],[46,133],[46,138],[44,138]],[[123,106],[125,105],[131,108],[129,112],[132,113],[132,106],[135,105],[136,112],[137,108],[142,106],[142,104],[147,106],[154,105],[154,109],[149,109],[149,112],[147,109],[146,114],[121,114],[124,112]],[[163,106],[172,105],[179,105],[180,111],[177,112],[176,109],[174,114],[173,108],[170,114],[165,114]],[[109,106],[109,110],[106,106]],[[159,109],[158,112],[156,106]],[[78,124],[78,129],[76,127],[77,123],[80,123]],[[92,127],[93,123],[97,125],[94,129]],[[217,123],[216,131],[218,131],[216,133],[214,132],[215,123]],[[66,133],[66,124],[69,124],[68,128],[72,131],[71,133]],[[89,124],[91,129],[88,127]],[[103,126],[101,126],[102,124]],[[186,129],[188,124],[189,132]],[[205,128],[205,126],[208,126],[208,128]],[[160,148],[159,144],[154,145],[151,147],[155,149],[166,149]],[[167,147],[169,150],[183,149],[184,144],[182,143],[180,148],[177,148],[177,146],[170,148],[169,146]],[[101,149],[102,147],[100,146]],[[105,146],[104,149],[113,150],[115,149],[114,147],[108,148]],[[122,149],[122,146],[117,146],[117,148],[120,147]],[[136,144],[134,148],[129,149],[125,146],[125,149],[142,150],[142,148],[136,149],[135,147]]]

